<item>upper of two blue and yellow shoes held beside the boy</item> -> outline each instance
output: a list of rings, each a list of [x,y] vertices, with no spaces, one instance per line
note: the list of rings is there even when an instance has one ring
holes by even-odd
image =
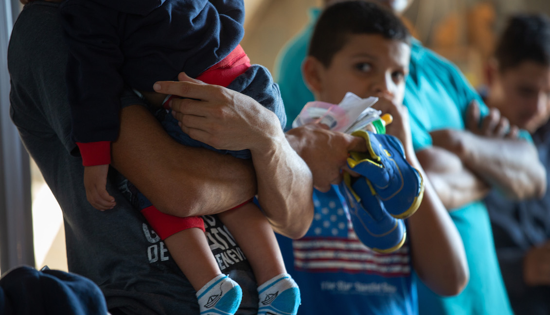
[[[357,130],[351,135],[367,142],[367,152],[350,152],[348,166],[365,176],[395,218],[408,218],[422,202],[422,175],[405,159],[405,150],[397,137]]]

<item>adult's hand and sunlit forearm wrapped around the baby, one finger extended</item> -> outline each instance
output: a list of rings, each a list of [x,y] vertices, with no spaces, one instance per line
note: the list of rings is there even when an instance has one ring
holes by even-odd
[[[155,90],[186,97],[171,103],[182,130],[218,149],[249,149],[258,201],[273,229],[292,238],[303,236],[313,219],[312,175],[276,115],[241,93],[184,74],[179,80],[157,82]]]

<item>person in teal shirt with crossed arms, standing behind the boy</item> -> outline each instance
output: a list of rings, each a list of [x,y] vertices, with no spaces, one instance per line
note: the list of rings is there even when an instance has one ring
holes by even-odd
[[[396,3],[386,4],[403,12],[406,7],[395,8]],[[292,81],[301,78],[307,32],[284,48],[276,69],[291,123],[293,113],[313,100],[300,99],[305,92],[298,92],[299,85]],[[304,49],[301,58],[299,49]],[[289,57],[294,54],[293,61],[284,57],[287,52]],[[285,70],[290,67],[294,74]],[[511,314],[482,198],[491,187],[517,199],[541,196],[546,190],[546,172],[529,135],[507,125],[498,110],[489,111],[458,68],[419,41],[411,47],[404,104],[417,156],[463,238],[470,267],[469,284],[453,297],[438,296],[419,281],[420,313]]]

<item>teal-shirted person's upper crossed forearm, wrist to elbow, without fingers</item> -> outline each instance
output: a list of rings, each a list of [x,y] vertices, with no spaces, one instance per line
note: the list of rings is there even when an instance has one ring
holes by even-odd
[[[544,195],[546,170],[532,143],[464,132],[460,147],[459,157],[464,165],[505,196],[522,200]]]

